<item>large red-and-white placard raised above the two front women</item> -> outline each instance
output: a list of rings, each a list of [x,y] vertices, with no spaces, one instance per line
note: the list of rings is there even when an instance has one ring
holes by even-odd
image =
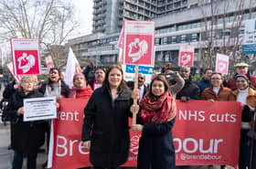
[[[123,64],[153,66],[155,62],[155,22],[123,22]]]

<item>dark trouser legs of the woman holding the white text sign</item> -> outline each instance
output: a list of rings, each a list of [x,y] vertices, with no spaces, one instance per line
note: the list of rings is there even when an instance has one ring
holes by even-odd
[[[22,169],[24,153],[15,151],[12,169]],[[27,153],[27,169],[37,168],[37,153]]]

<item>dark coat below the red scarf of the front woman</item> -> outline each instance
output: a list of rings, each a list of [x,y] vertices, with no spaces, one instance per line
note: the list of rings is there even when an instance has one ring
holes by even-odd
[[[176,168],[172,134],[175,121],[176,119],[162,124],[144,123],[139,143],[137,169]]]

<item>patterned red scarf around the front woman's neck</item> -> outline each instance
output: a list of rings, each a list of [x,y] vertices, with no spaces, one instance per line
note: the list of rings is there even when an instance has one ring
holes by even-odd
[[[165,92],[155,101],[150,100],[149,92],[144,95],[141,104],[141,117],[145,123],[165,123],[176,117],[176,101],[173,100],[170,91]]]

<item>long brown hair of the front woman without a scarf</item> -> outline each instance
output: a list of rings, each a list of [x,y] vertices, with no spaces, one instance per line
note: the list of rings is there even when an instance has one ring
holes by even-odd
[[[110,76],[110,72],[112,71],[112,69],[119,69],[121,71],[121,74],[122,74],[121,83],[120,83],[120,85],[117,89],[118,93],[120,93],[123,89],[128,89],[128,87],[127,87],[127,85],[126,85],[126,83],[123,79],[123,69],[118,65],[112,65],[106,72],[106,76],[105,76],[105,79],[103,81],[101,90],[103,92],[106,92],[110,89],[109,76]]]

